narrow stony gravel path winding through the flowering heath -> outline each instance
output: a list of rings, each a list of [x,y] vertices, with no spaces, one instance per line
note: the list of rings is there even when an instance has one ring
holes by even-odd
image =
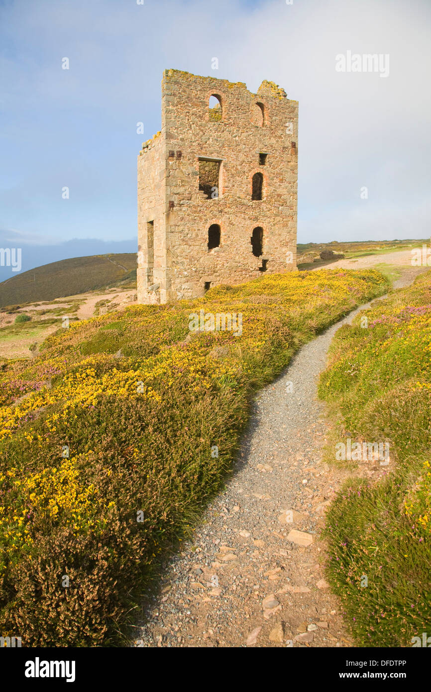
[[[235,473],[194,540],[163,565],[132,646],[352,646],[316,536],[351,471],[321,460],[328,426],[316,386],[333,334],[364,307],[304,345],[257,394]]]

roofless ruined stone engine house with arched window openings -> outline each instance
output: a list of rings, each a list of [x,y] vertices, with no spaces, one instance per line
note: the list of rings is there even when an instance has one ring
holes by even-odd
[[[297,117],[273,82],[165,70],[162,129],[138,157],[138,302],[296,270]]]

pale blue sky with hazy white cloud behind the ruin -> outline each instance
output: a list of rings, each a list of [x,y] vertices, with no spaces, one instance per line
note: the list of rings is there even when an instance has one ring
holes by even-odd
[[[429,237],[430,29],[429,0],[0,0],[0,246],[133,251],[169,67],[299,100],[299,242]],[[389,76],[336,72],[347,51]]]

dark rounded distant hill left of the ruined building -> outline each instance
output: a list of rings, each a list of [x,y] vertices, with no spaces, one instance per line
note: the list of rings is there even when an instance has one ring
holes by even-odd
[[[17,274],[0,284],[0,307],[54,300],[116,284],[136,285],[136,253],[73,257]]]

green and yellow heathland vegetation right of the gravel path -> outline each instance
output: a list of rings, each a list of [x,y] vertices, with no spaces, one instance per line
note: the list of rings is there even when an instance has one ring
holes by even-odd
[[[320,395],[340,441],[389,441],[391,470],[331,504],[328,576],[358,644],[412,646],[431,621],[431,272],[361,315],[336,333]]]

